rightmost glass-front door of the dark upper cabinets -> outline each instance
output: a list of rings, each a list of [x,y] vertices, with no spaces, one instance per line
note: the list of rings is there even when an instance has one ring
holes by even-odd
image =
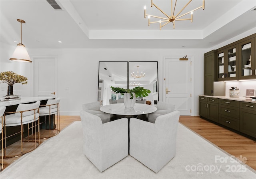
[[[239,44],[239,52],[239,79],[255,78],[255,38],[241,42]]]

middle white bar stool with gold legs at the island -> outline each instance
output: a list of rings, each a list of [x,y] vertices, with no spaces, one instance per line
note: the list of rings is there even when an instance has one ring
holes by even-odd
[[[35,103],[31,103],[31,104],[19,104],[15,112],[4,113],[4,141],[5,141],[4,142],[4,158],[19,157],[25,154],[23,153],[24,124],[28,124],[28,131],[29,129],[32,129],[32,142],[34,141],[34,149],[36,149],[36,125],[38,126],[38,146],[39,146],[40,129],[39,129],[39,124],[38,123],[36,124],[36,121],[38,121],[39,119],[39,113],[38,113],[39,105],[40,105],[40,101],[36,101]],[[10,114],[6,115],[8,113]],[[29,123],[32,123],[32,127],[29,127]],[[6,157],[6,138],[13,136],[13,135],[6,136],[6,127],[18,126],[18,125],[21,126],[21,129],[19,132],[14,133],[13,135],[21,133],[21,154]],[[34,136],[34,131],[35,131],[35,136]]]

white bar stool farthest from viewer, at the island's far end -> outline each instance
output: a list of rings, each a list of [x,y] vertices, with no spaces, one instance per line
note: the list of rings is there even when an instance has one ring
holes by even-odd
[[[46,124],[46,116],[49,115],[49,137],[44,137],[43,139],[47,139],[57,135],[60,131],[60,98],[57,99],[48,99],[46,105],[40,105],[39,115],[44,116],[44,122]],[[50,115],[57,114],[57,133],[51,135],[51,117]],[[46,126],[45,126],[46,127]],[[53,129],[55,130],[55,129]]]

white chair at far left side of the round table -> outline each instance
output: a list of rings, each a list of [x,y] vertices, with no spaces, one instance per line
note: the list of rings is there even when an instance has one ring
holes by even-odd
[[[102,123],[110,121],[110,114],[100,111],[100,102],[86,103],[82,105],[82,109],[88,113],[97,115],[102,120]]]

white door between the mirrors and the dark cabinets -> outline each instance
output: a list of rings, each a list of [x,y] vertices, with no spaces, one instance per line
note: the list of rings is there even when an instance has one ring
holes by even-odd
[[[164,58],[165,101],[175,105],[180,115],[191,115],[191,58]]]

